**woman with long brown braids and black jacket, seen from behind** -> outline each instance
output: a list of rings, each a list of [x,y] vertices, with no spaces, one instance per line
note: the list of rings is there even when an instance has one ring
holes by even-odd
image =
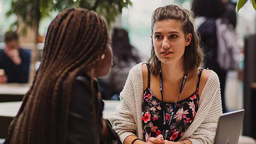
[[[40,67],[5,144],[100,144],[114,137],[102,120],[95,81],[111,65],[105,20],[81,8],[60,12],[49,25]]]

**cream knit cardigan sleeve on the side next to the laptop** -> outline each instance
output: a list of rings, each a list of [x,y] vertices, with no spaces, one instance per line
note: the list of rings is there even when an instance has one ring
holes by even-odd
[[[218,75],[213,72],[211,77],[211,84],[207,85],[214,88],[213,101],[211,107],[207,111],[207,115],[199,127],[187,138],[192,144],[212,144],[216,133],[219,116],[222,114],[219,78]],[[212,96],[210,96],[212,97]]]

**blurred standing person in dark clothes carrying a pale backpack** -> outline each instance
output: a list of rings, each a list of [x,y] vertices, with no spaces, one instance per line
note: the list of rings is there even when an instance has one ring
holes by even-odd
[[[222,111],[225,113],[227,72],[238,66],[239,47],[234,31],[235,12],[231,1],[226,0],[194,0],[192,10],[196,15],[195,27],[206,55],[203,65],[219,76]]]

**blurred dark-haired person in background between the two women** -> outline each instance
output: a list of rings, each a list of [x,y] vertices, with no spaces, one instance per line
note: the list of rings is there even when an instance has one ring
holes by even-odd
[[[141,55],[130,44],[126,30],[114,28],[111,37],[113,67],[107,77],[100,79],[100,92],[103,99],[119,99],[119,94],[127,79],[129,70],[141,62]]]

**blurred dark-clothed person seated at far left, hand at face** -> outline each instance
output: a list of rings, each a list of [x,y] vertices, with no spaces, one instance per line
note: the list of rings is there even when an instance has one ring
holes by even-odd
[[[0,69],[5,72],[1,77],[6,77],[6,81],[1,83],[27,83],[30,54],[20,48],[16,33],[7,32],[3,37],[5,48],[0,50]]]

